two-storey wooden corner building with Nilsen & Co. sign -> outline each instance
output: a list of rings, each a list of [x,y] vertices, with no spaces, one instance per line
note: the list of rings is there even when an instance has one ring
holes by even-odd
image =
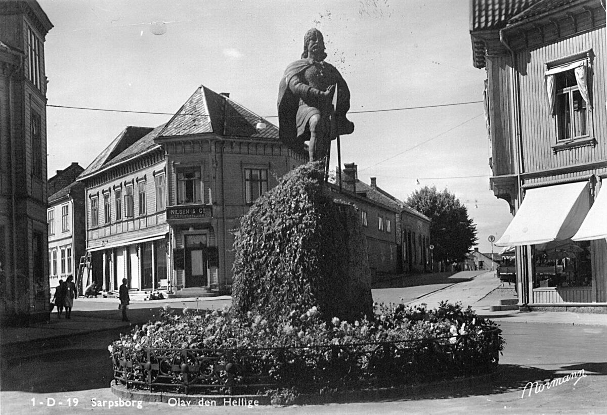
[[[232,231],[307,153],[229,98],[199,87],[166,123],[127,127],[78,180],[86,187],[93,278],[116,290],[229,293]]]

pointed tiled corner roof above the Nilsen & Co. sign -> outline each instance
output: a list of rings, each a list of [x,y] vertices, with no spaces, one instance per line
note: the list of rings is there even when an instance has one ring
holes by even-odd
[[[223,137],[278,140],[278,128],[274,124],[263,120],[265,129],[256,129],[260,120],[259,115],[236,101],[200,86],[166,123],[160,137],[215,133]]]

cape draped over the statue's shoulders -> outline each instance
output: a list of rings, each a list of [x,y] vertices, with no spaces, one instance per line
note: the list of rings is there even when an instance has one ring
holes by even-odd
[[[299,59],[291,62],[285,74],[280,78],[278,87],[278,122],[280,140],[288,145],[293,145],[297,139],[297,108],[299,107],[299,97],[293,95],[289,89],[289,82],[293,76],[304,72],[313,65],[311,59]],[[337,75],[337,108],[335,116],[337,121],[337,130],[340,135],[350,134],[354,131],[354,124],[347,120],[345,114],[350,109],[350,90],[342,78],[339,71],[331,64],[325,62],[328,70]]]

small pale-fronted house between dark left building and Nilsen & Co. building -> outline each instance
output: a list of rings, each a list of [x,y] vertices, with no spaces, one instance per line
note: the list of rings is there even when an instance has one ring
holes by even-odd
[[[75,277],[80,257],[86,253],[84,184],[76,181],[83,171],[80,164],[72,163],[64,170],[57,170],[47,183],[51,294],[54,293],[53,288],[59,285],[59,280],[65,281],[69,275]]]

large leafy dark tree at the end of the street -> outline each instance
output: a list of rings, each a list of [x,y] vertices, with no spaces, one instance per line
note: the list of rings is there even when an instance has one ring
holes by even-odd
[[[447,263],[463,261],[476,244],[476,225],[468,217],[468,209],[454,194],[436,186],[424,186],[407,199],[407,204],[432,220],[430,243],[433,258]]]

